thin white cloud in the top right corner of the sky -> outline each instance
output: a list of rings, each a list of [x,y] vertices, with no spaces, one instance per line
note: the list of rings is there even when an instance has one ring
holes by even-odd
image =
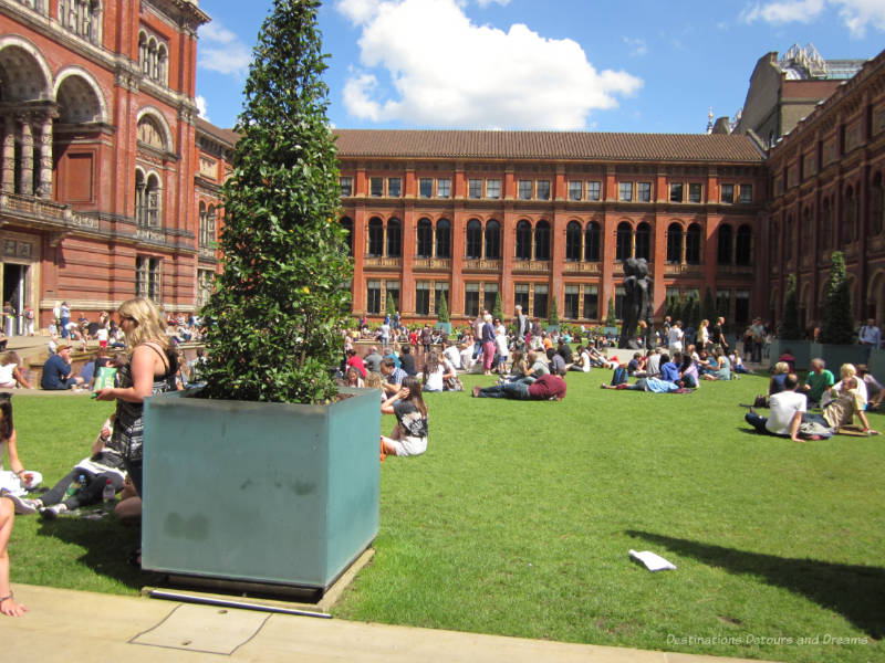
[[[757,2],[740,14],[747,23],[811,23],[830,6],[839,8],[839,15],[854,36],[863,38],[867,27],[885,31],[885,1],[883,0],[782,0]]]

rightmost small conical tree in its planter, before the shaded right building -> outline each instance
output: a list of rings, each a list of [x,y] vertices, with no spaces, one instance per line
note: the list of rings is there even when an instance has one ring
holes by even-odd
[[[811,344],[811,354],[823,357],[827,367],[836,372],[842,364],[864,361],[864,349],[853,341],[854,316],[845,275],[845,256],[841,251],[833,251],[830,256],[830,276],[824,285],[821,343]]]

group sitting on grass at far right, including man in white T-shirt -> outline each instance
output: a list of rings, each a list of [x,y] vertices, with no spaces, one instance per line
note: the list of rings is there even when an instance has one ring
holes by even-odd
[[[787,436],[794,442],[827,439],[836,433],[877,435],[866,417],[867,410],[877,409],[885,388],[873,377],[865,365],[843,364],[839,381],[826,369],[823,359],[811,361],[805,381],[785,361],[774,365],[766,397],[758,397],[758,407],[768,407],[769,417],[750,408],[745,419],[757,432]],[[820,412],[810,412],[820,409]],[[861,428],[854,425],[855,417]]]

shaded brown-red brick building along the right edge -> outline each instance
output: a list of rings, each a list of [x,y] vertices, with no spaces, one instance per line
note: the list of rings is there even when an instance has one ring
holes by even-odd
[[[885,319],[885,52],[840,85],[770,151],[768,269],[778,317],[795,274],[801,316],[820,322],[830,256],[845,254],[855,317]]]

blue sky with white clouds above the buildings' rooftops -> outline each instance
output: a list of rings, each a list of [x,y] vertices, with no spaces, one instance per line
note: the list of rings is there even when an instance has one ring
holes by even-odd
[[[271,0],[200,0],[197,97],[233,126]],[[885,45],[885,0],[327,0],[329,118],[343,128],[699,133],[759,57]]]

